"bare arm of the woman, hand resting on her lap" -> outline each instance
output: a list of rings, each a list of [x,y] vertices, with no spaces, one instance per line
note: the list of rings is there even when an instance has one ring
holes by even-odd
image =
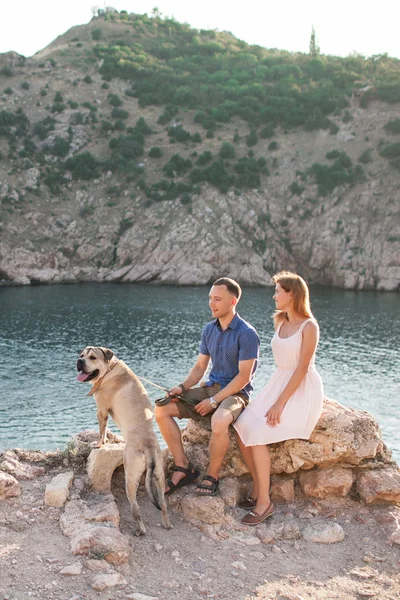
[[[314,321],[309,321],[305,325],[302,333],[303,337],[301,342],[299,364],[278,400],[273,406],[271,406],[265,415],[267,417],[267,425],[270,427],[275,427],[275,425],[280,423],[282,411],[285,408],[288,400],[293,396],[306,376],[311,359],[317,347],[319,331],[318,325]]]

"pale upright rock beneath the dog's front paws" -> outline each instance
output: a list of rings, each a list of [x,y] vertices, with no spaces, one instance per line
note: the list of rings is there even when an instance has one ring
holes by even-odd
[[[117,467],[124,462],[125,444],[104,444],[91,451],[87,471],[92,488],[98,492],[111,492],[111,479]]]

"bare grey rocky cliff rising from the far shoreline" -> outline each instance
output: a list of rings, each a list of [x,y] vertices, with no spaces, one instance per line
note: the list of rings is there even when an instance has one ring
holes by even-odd
[[[8,64],[11,58],[4,58]],[[12,57],[15,62],[17,58]],[[8,61],[8,63],[7,63]],[[100,133],[90,123],[93,106],[111,107],[108,95],[121,93],[118,79],[102,87],[93,74],[90,86],[72,86],[79,73],[69,67],[45,63],[39,69],[33,59],[14,66],[15,75],[0,75],[0,89],[13,85],[13,93],[0,94],[0,110],[22,109],[31,124],[49,114],[41,90],[71,93],[74,100],[55,115],[55,129],[41,141],[42,163],[22,156],[22,142],[7,154],[0,136],[0,279],[6,284],[71,283],[79,281],[159,282],[207,284],[228,275],[244,284],[266,285],[277,270],[293,269],[309,281],[352,289],[398,290],[400,281],[399,171],[379,155],[384,125],[396,117],[396,105],[375,101],[361,108],[351,103],[352,120],[333,117],[337,133],[283,131],[276,135],[277,148],[260,139],[253,151],[267,158],[270,176],[249,191],[226,194],[203,184],[188,203],[180,199],[152,202],[137,182],[122,179],[109,170],[90,181],[74,181],[71,173],[57,192],[45,185],[46,169],[60,159],[49,152],[56,138],[68,142],[69,156],[81,149],[105,156],[110,133]],[[29,90],[21,82],[29,82]],[[26,87],[26,85],[25,85]],[[41,99],[41,100],[40,100]],[[86,101],[84,124],[72,124],[75,99]],[[168,156],[177,152],[157,124],[161,109],[142,109],[135,98],[124,99],[130,119],[144,116],[152,128],[149,146],[158,144]],[[84,104],[84,103],[83,103]],[[193,115],[181,121],[194,133]],[[221,136],[232,139],[239,132],[238,149],[248,132],[245,123],[227,125]],[[386,135],[387,137],[387,135]],[[197,148],[218,152],[221,139],[204,140]],[[397,139],[392,136],[391,140]],[[147,143],[147,142],[146,142]],[[313,163],[326,163],[327,152],[346,153],[353,164],[370,149],[372,161],[364,166],[364,181],[318,194],[312,177],[300,176]],[[180,150],[180,148],[179,148]],[[158,159],[160,160],[160,159]],[[151,175],[154,160],[143,163]],[[157,167],[158,168],[158,167]],[[155,175],[154,175],[155,176]],[[179,180],[177,177],[175,180]],[[296,193],[291,184],[298,183]]]

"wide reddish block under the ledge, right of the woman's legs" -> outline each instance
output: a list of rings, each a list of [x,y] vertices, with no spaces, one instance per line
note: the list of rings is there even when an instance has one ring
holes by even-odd
[[[353,485],[352,469],[332,467],[303,471],[299,475],[299,483],[303,493],[313,498],[328,498],[329,496],[346,496]]]

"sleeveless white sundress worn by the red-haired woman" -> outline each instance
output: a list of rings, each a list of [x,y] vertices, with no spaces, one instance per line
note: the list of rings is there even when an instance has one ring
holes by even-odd
[[[315,368],[315,352],[303,381],[283,409],[280,423],[270,427],[265,417],[299,364],[302,331],[306,323],[312,320],[304,321],[298,331],[288,338],[279,337],[282,323],[276,329],[271,340],[276,369],[267,385],[233,424],[245,446],[274,444],[296,438],[309,439],[317,424],[322,411],[324,387]]]

